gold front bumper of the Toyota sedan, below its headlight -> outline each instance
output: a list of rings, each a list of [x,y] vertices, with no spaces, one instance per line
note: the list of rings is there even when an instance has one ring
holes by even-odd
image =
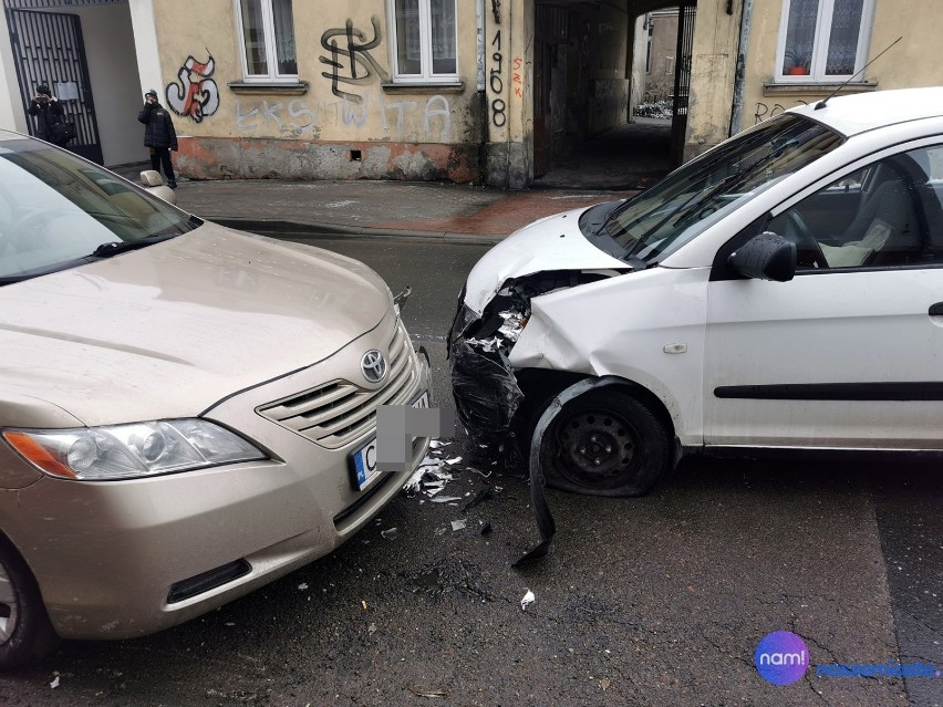
[[[363,352],[383,350],[396,330],[390,316],[331,358],[205,414],[267,449],[270,460],[126,481],[43,477],[0,493],[3,531],[35,575],[58,633],[124,638],[167,628],[328,554],[361,529],[402,488],[429,440],[414,441],[404,471],[357,491],[351,455],[375,435],[375,423],[338,423],[348,436],[327,446],[260,409],[325,381],[356,381]],[[412,346],[406,355],[410,372],[395,395],[379,396],[383,384],[363,391],[375,405],[408,404],[429,389],[427,361]],[[194,581],[226,568],[242,571],[224,572],[215,586]]]

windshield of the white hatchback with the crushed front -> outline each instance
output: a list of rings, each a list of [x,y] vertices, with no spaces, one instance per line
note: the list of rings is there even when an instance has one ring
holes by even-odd
[[[612,238],[614,254],[651,267],[719,217],[841,142],[840,135],[806,118],[777,116],[621,205],[598,235]]]

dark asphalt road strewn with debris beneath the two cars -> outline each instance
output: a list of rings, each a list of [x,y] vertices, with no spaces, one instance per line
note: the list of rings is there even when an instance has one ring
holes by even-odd
[[[447,404],[445,329],[484,247],[318,245],[413,287],[404,319]],[[937,464],[688,459],[642,499],[550,491],[553,551],[515,570],[537,539],[527,484],[462,438],[444,451],[463,457],[456,505],[397,498],[333,555],[207,616],[3,676],[0,705],[943,705],[943,678],[810,670],[778,687],[753,663],[787,630],[814,665],[943,666]]]

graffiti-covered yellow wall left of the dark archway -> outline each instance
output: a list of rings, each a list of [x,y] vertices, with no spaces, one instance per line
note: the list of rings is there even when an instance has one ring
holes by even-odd
[[[516,2],[515,7],[529,6],[532,15],[532,1]],[[486,45],[488,70],[499,73],[501,93],[493,95],[490,89],[479,93],[476,3],[459,0],[456,6],[460,84],[388,85],[391,28],[384,0],[296,0],[293,21],[301,85],[251,90],[242,81],[241,38],[232,0],[157,3],[162,102],[175,107],[175,98],[184,95],[190,83],[208,86],[204,96],[214,89],[218,94],[218,102],[210,98],[205,103],[204,115],[175,115],[175,126],[185,136],[179,160],[183,174],[210,178],[475,179],[480,174],[483,146],[489,142],[521,144],[526,139],[529,128],[522,97],[515,97],[511,83],[517,59],[520,86],[526,89],[522,82],[528,28],[520,19],[520,9],[515,9],[515,27],[510,3],[502,4],[500,67],[490,65],[497,49]],[[490,2],[486,10],[490,42],[497,27]],[[334,85],[333,69],[325,60],[331,60],[332,37],[339,49],[346,49],[348,22],[356,43],[379,38],[379,44],[360,54],[356,83],[343,81],[352,72],[349,58],[340,55],[340,81]],[[532,35],[532,28],[529,32]],[[207,62],[210,55],[215,62],[211,74],[187,71],[188,58]],[[234,87],[234,82],[243,85]],[[493,119],[495,98],[505,101],[500,129]],[[494,105],[501,107],[500,103]],[[505,173],[524,170],[515,180],[526,179],[527,165],[519,158],[511,163],[505,159],[504,164]],[[509,177],[505,174],[498,177],[501,179],[507,181]]]

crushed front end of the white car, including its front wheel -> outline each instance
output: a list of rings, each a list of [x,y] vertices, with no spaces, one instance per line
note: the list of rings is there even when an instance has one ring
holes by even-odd
[[[622,386],[602,385],[621,382],[593,365],[572,318],[547,310],[555,294],[576,295],[645,269],[587,236],[620,204],[543,219],[486,254],[468,278],[448,337],[453,393],[472,441],[514,464],[529,456],[540,428],[547,482],[601,496],[643,493],[669,464],[647,458],[649,448],[671,447],[662,412],[636,414],[638,402]],[[559,396],[578,385],[580,395],[562,404]],[[545,416],[555,401],[559,409]]]

